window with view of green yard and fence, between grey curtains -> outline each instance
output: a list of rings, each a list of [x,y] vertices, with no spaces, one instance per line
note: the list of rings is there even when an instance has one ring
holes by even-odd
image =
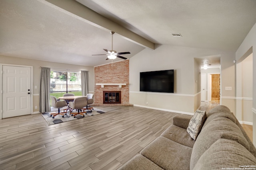
[[[75,96],[82,95],[81,73],[70,70],[51,70],[50,95],[56,98],[65,93],[73,93]]]

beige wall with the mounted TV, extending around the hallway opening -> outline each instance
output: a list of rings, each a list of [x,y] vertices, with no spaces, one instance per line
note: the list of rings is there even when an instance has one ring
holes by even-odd
[[[194,113],[200,106],[199,64],[194,58],[220,55],[224,58],[224,77],[227,79],[222,86],[235,87],[234,53],[223,53],[211,49],[198,49],[172,45],[157,45],[154,51],[144,49],[130,59],[130,104],[136,106],[161,108],[178,113]],[[174,94],[140,92],[140,72],[174,69]],[[235,97],[235,92],[226,94]],[[225,103],[232,106],[235,103],[227,99]]]

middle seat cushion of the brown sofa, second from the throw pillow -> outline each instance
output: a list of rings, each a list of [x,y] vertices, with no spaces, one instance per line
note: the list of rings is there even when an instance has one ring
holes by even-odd
[[[192,148],[180,145],[165,137],[158,137],[140,154],[165,170],[189,170]]]

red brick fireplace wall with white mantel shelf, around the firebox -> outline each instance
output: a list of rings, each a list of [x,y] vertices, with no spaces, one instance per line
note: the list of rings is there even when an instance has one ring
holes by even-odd
[[[104,104],[103,91],[120,91],[120,104]],[[129,106],[129,60],[94,67],[94,106]]]

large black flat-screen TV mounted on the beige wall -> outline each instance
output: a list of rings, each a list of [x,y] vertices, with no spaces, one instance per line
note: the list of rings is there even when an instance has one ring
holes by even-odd
[[[140,91],[174,92],[174,70],[140,72]]]

